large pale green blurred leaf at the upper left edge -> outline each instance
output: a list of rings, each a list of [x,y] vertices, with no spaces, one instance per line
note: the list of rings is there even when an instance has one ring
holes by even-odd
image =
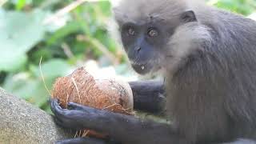
[[[44,36],[44,12],[23,13],[0,10],[0,71],[18,70],[26,62],[26,52]]]

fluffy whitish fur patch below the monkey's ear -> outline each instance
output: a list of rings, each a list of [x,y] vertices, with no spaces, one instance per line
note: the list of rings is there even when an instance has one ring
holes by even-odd
[[[211,35],[209,28],[198,24],[198,22],[189,22],[179,26],[166,48],[166,58],[168,63],[164,63],[167,71],[175,71],[182,61],[195,50],[202,50],[202,42],[210,42]]]

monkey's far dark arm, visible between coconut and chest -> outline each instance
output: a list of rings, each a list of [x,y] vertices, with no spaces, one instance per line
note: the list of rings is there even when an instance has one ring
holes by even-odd
[[[129,84],[134,94],[134,109],[153,114],[159,114],[165,110],[163,82],[150,80],[129,82]]]

